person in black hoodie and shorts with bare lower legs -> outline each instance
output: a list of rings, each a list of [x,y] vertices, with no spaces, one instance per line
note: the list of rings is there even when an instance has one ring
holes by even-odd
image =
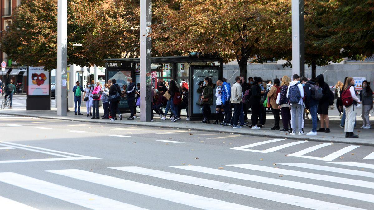
[[[319,100],[318,104],[318,114],[321,117],[321,128],[317,130],[317,132],[326,132],[330,133],[329,124],[330,119],[328,117],[328,106],[329,106],[329,91],[330,87],[327,83],[325,83],[324,75],[320,74],[316,77],[316,81],[319,87],[322,87],[322,98]],[[325,129],[326,124],[326,129]]]

